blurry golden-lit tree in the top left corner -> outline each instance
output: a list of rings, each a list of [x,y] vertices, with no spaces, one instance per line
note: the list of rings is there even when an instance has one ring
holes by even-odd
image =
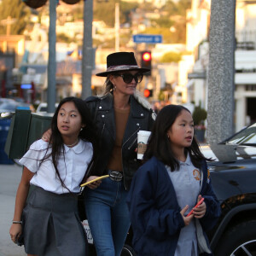
[[[7,20],[8,17],[16,19],[10,26],[10,34],[23,34],[26,24],[29,21],[31,9],[21,0],[4,0],[0,3],[0,20]],[[6,34],[6,25],[1,24],[0,34]]]

